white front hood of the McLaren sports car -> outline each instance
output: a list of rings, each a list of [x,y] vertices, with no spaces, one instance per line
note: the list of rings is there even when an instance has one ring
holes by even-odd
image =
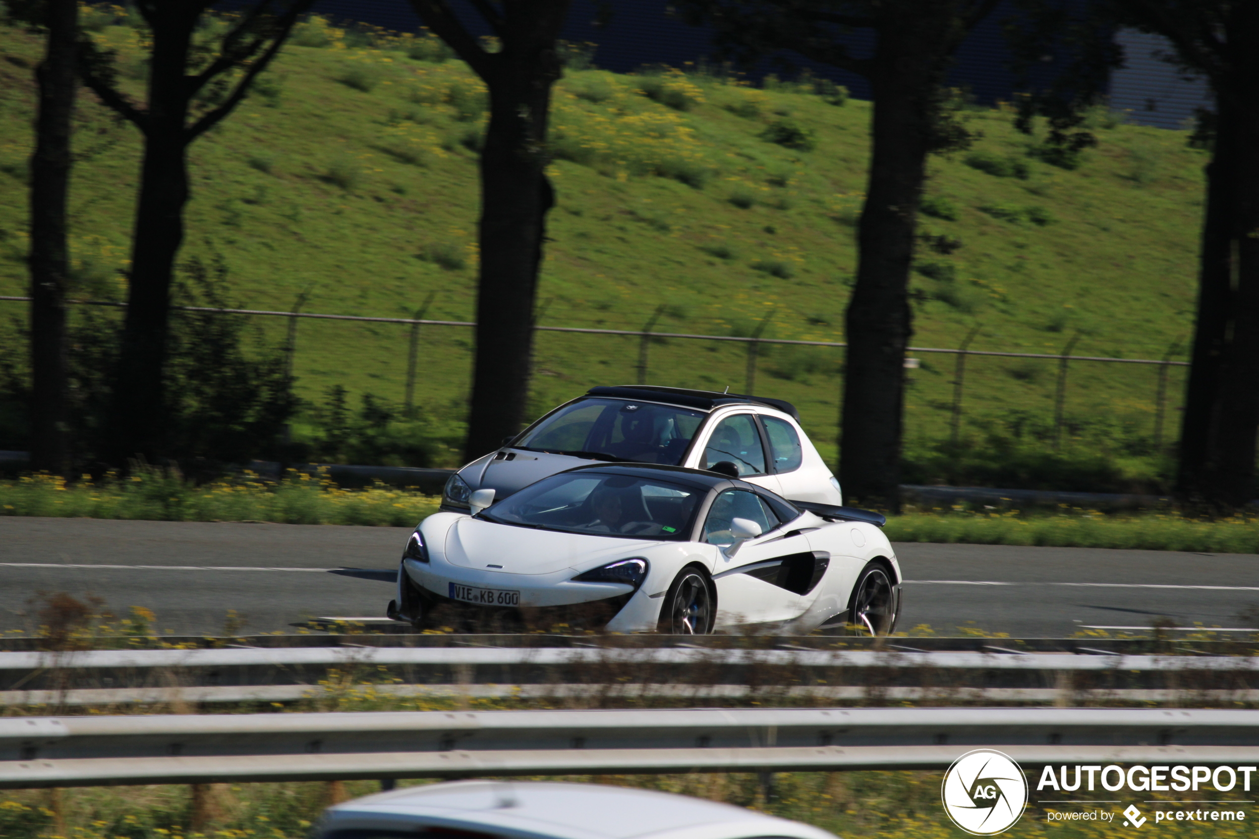
[[[504,574],[554,574],[601,557],[616,558],[656,545],[641,538],[560,533],[461,518],[446,533],[446,561]],[[501,569],[487,567],[501,565]]]

